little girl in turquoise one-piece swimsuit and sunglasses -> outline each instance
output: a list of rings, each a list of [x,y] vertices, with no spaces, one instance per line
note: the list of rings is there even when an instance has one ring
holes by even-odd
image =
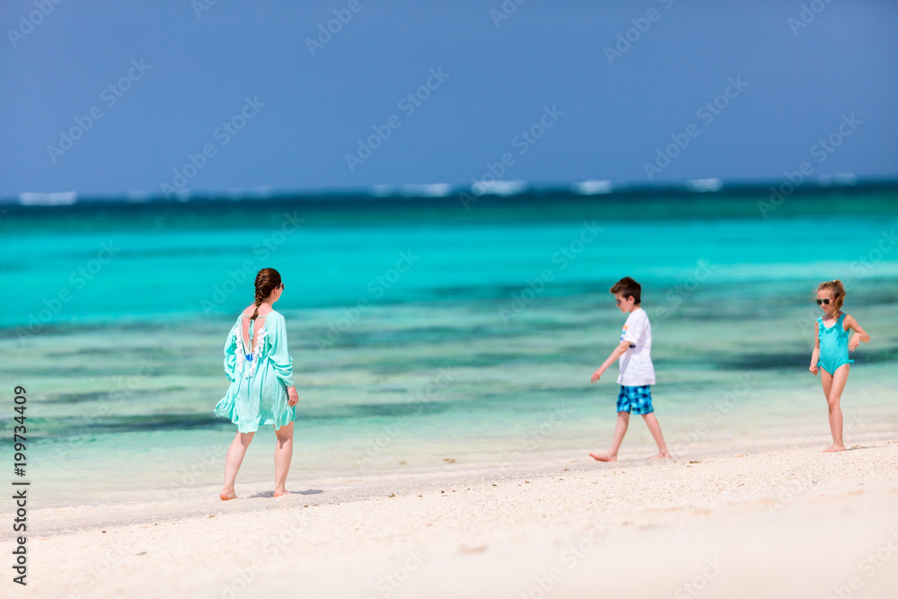
[[[848,352],[854,351],[861,341],[868,343],[870,336],[860,328],[858,321],[841,311],[845,301],[845,287],[841,281],[826,281],[817,286],[817,305],[823,309],[823,316],[817,319],[817,339],[814,342],[814,353],[811,354],[811,374],[816,375],[818,366],[823,368],[820,380],[823,383],[823,394],[830,410],[830,431],[832,446],[824,452],[845,451],[842,444],[842,417],[839,401],[841,392],[848,382],[850,364]],[[848,339],[848,331],[854,335]]]

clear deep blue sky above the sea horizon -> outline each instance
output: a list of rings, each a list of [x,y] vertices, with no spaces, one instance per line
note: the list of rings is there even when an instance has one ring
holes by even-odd
[[[207,2],[0,4],[0,197],[898,175],[898,3]]]

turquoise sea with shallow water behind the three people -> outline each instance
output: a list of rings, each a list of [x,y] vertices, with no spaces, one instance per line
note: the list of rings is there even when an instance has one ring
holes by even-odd
[[[263,267],[286,284],[300,487],[605,448],[616,369],[589,377],[619,338],[608,288],[628,275],[674,453],[828,445],[807,366],[814,288],[836,277],[873,338],[842,399],[846,442],[898,435],[898,186],[800,189],[775,205],[766,186],[579,191],[0,204],[0,425],[12,432],[24,386],[34,503],[220,484],[233,436],[212,414],[222,347]],[[238,485],[272,478],[273,443],[257,435]],[[649,453],[634,419],[621,458]]]

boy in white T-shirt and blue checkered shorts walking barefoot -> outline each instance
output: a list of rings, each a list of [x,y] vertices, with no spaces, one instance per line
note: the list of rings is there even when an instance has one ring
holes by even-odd
[[[621,345],[593,373],[592,382],[598,383],[608,366],[621,358],[621,374],[618,374],[618,384],[621,385],[617,406],[618,421],[608,453],[589,455],[600,462],[617,462],[617,450],[627,432],[629,413],[632,410],[645,418],[648,430],[658,444],[658,453],[652,458],[669,458],[671,454],[667,451],[665,437],[661,435],[661,425],[653,413],[655,409],[652,407],[652,393],[649,390],[649,385],[655,384],[655,366],[652,365],[650,355],[652,325],[648,322],[646,311],[639,306],[642,286],[630,277],[623,277],[609,291],[614,294],[621,312],[629,313],[629,316],[621,332]]]

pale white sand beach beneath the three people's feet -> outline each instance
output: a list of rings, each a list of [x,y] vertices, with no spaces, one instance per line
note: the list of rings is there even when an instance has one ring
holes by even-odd
[[[584,447],[30,514],[29,597],[894,597],[898,440]],[[621,457],[625,457],[622,452]],[[240,480],[238,479],[238,483]],[[4,546],[9,547],[8,535]],[[4,553],[9,552],[4,549]]]

